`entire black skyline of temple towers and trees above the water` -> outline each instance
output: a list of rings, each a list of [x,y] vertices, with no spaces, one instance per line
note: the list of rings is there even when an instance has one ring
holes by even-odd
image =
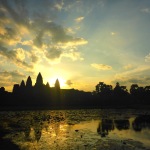
[[[35,85],[29,76],[13,86],[12,92],[0,88],[0,110],[5,109],[66,109],[66,108],[141,108],[150,106],[150,86],[132,84],[130,92],[118,82],[113,88],[104,82],[95,86],[95,91],[61,89],[56,79],[54,87],[43,83],[41,73]]]

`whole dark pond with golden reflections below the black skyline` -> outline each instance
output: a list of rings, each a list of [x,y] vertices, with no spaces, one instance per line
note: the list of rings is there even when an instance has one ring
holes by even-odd
[[[150,111],[3,111],[0,149],[150,150]]]

